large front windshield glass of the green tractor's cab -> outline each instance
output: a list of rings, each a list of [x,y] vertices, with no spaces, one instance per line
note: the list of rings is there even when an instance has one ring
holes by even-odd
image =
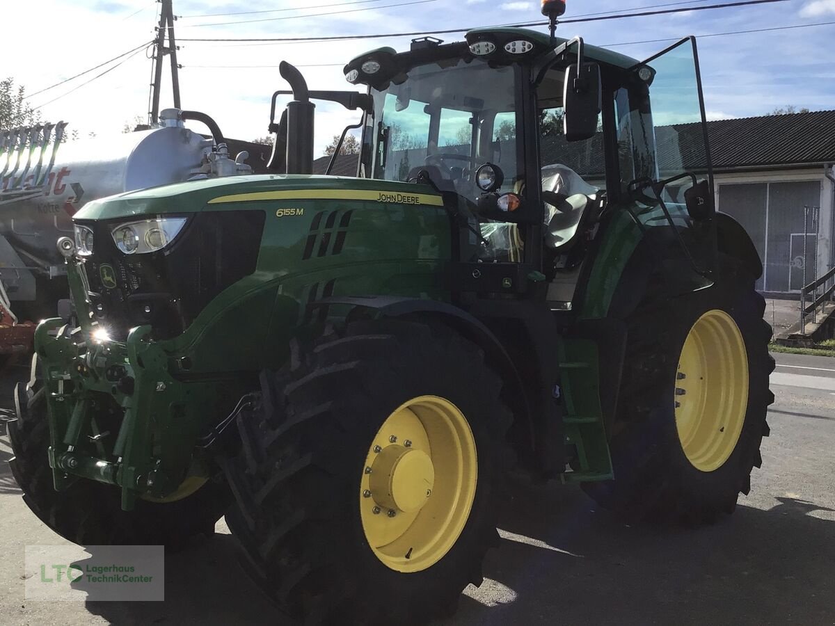
[[[370,178],[407,181],[428,170],[439,187],[473,202],[474,173],[497,164],[506,184],[522,179],[516,142],[517,68],[447,59],[412,68],[404,82],[372,88],[363,164]]]

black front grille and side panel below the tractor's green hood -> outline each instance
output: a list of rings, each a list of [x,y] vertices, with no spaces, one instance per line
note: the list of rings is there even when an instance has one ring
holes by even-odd
[[[150,325],[154,339],[185,331],[222,290],[256,270],[263,211],[211,211],[190,217],[174,243],[159,252],[124,255],[110,235],[129,220],[83,223],[94,230],[86,263],[90,299],[117,341]]]

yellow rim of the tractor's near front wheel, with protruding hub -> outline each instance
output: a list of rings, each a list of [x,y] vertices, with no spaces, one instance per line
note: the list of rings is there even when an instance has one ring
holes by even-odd
[[[397,572],[438,563],[467,523],[477,477],[475,439],[457,406],[420,396],[397,407],[362,468],[362,530],[377,558]]]

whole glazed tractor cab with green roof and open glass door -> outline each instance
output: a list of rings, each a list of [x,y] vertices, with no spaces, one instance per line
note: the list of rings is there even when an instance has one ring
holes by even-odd
[[[714,239],[699,224],[712,196],[696,68],[691,38],[639,63],[519,28],[372,50],[345,68],[372,98],[358,174],[443,193],[458,260],[479,265],[477,279],[458,272],[462,291],[523,293],[539,280],[554,309],[570,308],[616,207],[642,227],[673,226],[665,238],[683,250],[691,289]]]

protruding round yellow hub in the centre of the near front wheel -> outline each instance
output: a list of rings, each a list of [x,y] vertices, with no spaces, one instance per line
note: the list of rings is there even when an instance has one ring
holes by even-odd
[[[387,446],[372,464],[374,502],[397,512],[420,511],[435,485],[435,466],[423,450]]]

